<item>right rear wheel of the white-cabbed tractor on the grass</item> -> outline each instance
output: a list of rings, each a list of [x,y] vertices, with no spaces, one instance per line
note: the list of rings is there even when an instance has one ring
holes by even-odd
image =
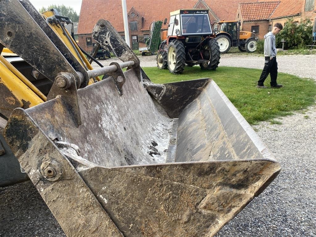
[[[221,53],[216,40],[210,39],[204,45],[203,58],[209,60],[209,62],[200,64],[202,70],[216,70],[221,58]]]

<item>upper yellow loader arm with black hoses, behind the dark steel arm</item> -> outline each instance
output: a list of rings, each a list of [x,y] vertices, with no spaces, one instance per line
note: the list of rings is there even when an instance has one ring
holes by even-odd
[[[53,16],[54,13],[52,11],[46,11],[43,12],[42,15],[44,16],[44,18]],[[79,47],[76,44],[76,41],[72,39],[70,33],[66,30],[70,40],[72,41],[73,45],[76,47],[77,51],[80,54],[80,57],[82,58],[84,64],[82,63],[81,59],[79,58],[79,56],[76,53],[76,50],[74,49],[74,47],[72,46],[71,42],[69,42],[68,37],[66,37],[64,35],[64,32],[62,30],[62,28],[60,28],[60,26],[56,25],[56,24],[49,24],[50,27],[53,29],[53,31],[59,36],[59,38],[64,42],[64,44],[69,48],[70,52],[75,56],[75,58],[78,60],[78,62],[84,67],[84,64],[87,66],[88,70],[92,70],[93,67],[91,66],[91,64],[89,63],[89,61],[87,60],[86,56],[81,52],[81,50],[79,49]],[[97,81],[101,81],[101,79],[99,77],[95,78]],[[92,84],[94,81],[92,79],[90,79],[89,84]]]

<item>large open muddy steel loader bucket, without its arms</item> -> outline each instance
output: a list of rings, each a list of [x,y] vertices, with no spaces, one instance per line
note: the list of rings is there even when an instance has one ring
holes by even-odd
[[[111,76],[77,91],[80,126],[62,97],[15,110],[10,147],[68,236],[213,236],[279,163],[212,80],[157,86],[158,103],[135,70],[124,76],[123,94]],[[93,228],[75,232],[78,218]]]

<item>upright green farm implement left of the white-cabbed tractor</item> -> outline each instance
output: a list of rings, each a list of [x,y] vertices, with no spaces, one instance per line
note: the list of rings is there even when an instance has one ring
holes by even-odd
[[[154,55],[158,50],[161,39],[160,39],[160,31],[161,31],[162,21],[154,21],[150,24],[150,35],[148,42],[145,42],[148,46],[141,47],[138,49],[142,56],[145,56],[146,53],[150,53]]]

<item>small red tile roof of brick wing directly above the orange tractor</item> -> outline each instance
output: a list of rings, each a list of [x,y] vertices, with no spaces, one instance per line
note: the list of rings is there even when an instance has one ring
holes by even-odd
[[[240,3],[240,12],[244,21],[266,20],[280,2]]]

